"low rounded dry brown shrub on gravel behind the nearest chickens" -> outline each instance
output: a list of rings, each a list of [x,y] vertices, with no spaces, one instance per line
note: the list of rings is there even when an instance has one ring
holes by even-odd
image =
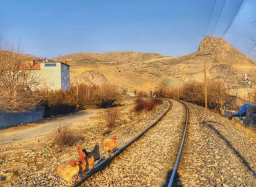
[[[67,126],[61,126],[56,129],[56,133],[53,137],[53,144],[56,144],[59,148],[66,146],[70,147],[82,138],[81,133],[75,132],[75,130],[71,130]]]

